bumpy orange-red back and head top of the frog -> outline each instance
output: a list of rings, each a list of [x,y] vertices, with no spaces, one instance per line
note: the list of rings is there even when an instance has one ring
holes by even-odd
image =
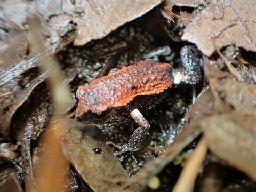
[[[140,61],[115,74],[95,79],[76,92],[76,114],[101,113],[111,107],[122,107],[139,95],[155,95],[172,85],[170,64]]]

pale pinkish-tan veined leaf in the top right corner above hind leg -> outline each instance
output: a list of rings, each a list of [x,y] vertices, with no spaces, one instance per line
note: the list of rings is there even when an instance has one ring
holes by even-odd
[[[190,23],[182,40],[195,43],[203,54],[210,56],[217,49],[234,44],[256,51],[255,1],[223,0],[212,4]]]

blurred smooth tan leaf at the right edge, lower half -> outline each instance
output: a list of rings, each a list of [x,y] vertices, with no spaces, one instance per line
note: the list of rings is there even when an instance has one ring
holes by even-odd
[[[256,180],[255,115],[236,111],[214,115],[202,121],[207,143],[215,155]]]

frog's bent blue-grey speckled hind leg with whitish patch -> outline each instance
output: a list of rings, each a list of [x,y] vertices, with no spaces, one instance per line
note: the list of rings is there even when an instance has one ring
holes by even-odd
[[[201,53],[194,45],[183,46],[180,50],[181,69],[173,69],[172,78],[174,85],[195,85],[202,79],[200,67]]]

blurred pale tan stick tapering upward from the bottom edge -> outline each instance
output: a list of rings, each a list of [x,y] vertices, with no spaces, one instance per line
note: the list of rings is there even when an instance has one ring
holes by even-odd
[[[173,192],[193,191],[198,170],[204,161],[207,149],[206,139],[203,137],[199,141],[196,151],[181,171],[180,177],[172,190]]]

